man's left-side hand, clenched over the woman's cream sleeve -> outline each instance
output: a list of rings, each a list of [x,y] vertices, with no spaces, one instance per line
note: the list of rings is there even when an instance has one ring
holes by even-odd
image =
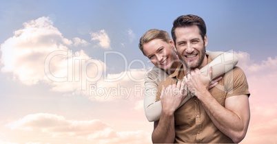
[[[163,87],[161,91],[161,104],[164,112],[175,112],[187,95],[184,86],[184,81],[178,81],[177,84],[172,84],[167,86],[167,88]]]

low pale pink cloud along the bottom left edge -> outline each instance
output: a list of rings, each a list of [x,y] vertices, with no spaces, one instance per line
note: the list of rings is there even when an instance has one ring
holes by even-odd
[[[25,133],[28,139],[43,138],[41,143],[59,139],[63,139],[63,143],[71,143],[72,140],[81,143],[150,143],[147,139],[149,133],[142,130],[118,132],[98,119],[75,121],[48,113],[26,115],[6,126],[11,133]]]

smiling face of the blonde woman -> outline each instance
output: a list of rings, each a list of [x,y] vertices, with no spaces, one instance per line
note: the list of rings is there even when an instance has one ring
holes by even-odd
[[[174,43],[167,43],[159,38],[151,40],[143,45],[143,51],[147,58],[158,68],[165,71],[172,67],[172,63],[178,60],[174,52]]]

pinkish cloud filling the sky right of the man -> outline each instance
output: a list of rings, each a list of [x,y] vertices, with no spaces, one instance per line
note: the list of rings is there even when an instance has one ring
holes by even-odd
[[[236,52],[241,67],[247,75],[251,119],[245,139],[241,143],[276,143],[277,138],[277,57],[260,63],[252,61],[249,53]]]

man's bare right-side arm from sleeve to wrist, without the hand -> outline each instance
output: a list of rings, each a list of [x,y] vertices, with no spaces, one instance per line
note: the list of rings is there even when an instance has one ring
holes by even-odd
[[[237,95],[225,99],[225,107],[206,91],[198,98],[214,125],[229,136],[234,143],[239,143],[247,132],[250,110],[247,95]]]

